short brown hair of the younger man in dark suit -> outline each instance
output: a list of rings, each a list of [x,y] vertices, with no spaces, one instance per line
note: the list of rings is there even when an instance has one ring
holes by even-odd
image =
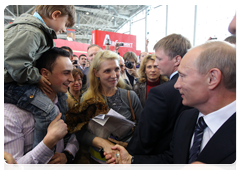
[[[183,57],[190,48],[190,41],[181,34],[170,34],[159,40],[153,47],[155,51],[162,49],[170,59],[177,55]]]

